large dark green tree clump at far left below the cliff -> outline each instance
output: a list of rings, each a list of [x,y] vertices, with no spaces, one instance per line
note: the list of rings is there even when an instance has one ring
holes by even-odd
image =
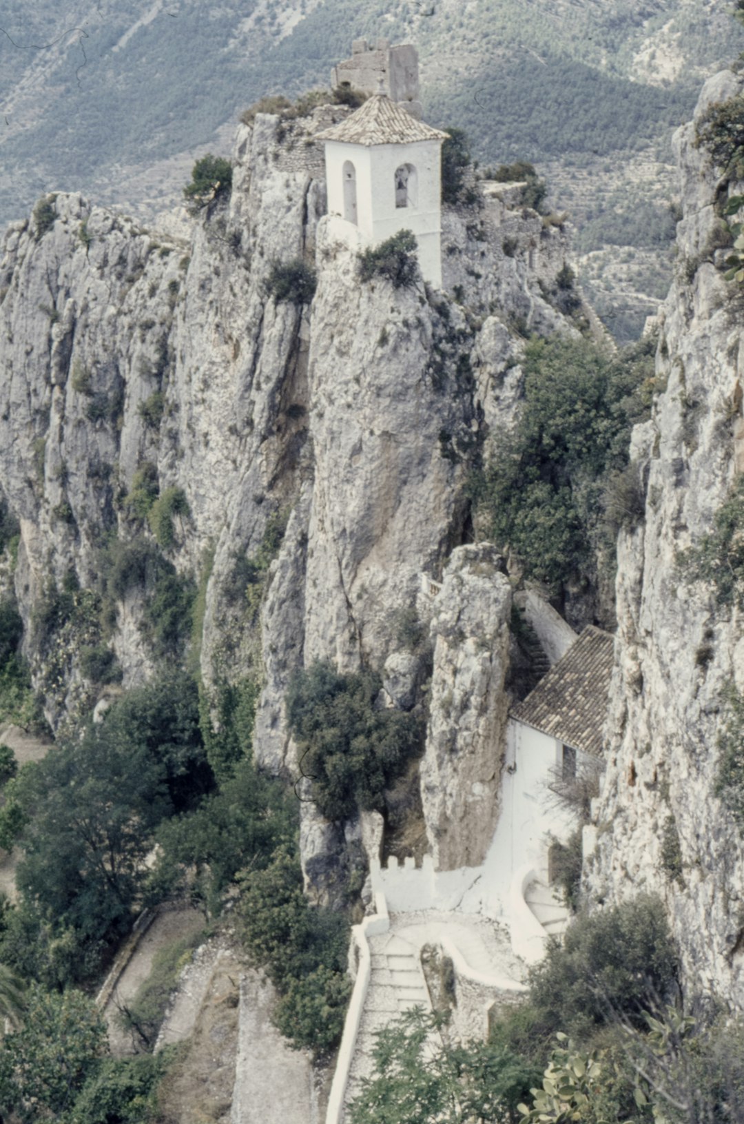
[[[102,723],[25,765],[3,809],[15,809],[22,849],[3,959],[58,973],[54,982],[84,976],[130,923],[156,826],[211,785],[197,688],[178,673],[130,691]]]

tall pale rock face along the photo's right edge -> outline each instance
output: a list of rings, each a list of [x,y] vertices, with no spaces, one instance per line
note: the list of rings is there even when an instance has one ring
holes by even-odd
[[[740,89],[731,73],[711,79],[696,119]],[[633,436],[646,511],[618,546],[608,769],[587,876],[600,899],[661,894],[690,984],[741,1006],[744,850],[713,785],[725,688],[744,686],[744,633],[738,610],[718,606],[679,565],[679,551],[711,529],[737,471],[741,292],[713,261],[718,174],[696,147],[692,125],[675,146],[684,217],[678,277],[660,318],[656,371],[666,389]]]

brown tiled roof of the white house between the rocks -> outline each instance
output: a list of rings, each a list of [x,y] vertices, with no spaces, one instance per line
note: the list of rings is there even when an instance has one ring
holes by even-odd
[[[564,745],[599,756],[613,646],[609,633],[588,625],[535,690],[512,707],[511,717]]]

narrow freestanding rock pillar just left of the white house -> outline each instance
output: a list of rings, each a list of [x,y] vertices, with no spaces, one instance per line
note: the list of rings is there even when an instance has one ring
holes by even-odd
[[[492,546],[453,551],[434,601],[421,798],[439,870],[477,867],[499,814],[511,587]]]

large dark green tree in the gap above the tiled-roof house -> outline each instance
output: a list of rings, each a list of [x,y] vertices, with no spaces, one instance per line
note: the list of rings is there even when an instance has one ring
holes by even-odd
[[[591,572],[604,495],[627,462],[630,426],[645,413],[651,345],[619,357],[588,339],[533,339],[512,434],[487,466],[481,510],[496,541],[554,592]]]

